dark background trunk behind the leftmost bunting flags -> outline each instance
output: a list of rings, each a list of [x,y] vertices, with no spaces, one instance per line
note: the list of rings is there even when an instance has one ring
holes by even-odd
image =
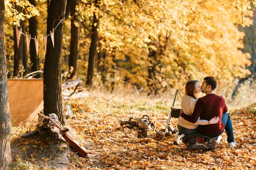
[[[21,28],[22,28],[22,25],[23,25],[23,21],[20,21]],[[16,35],[16,28],[15,28],[15,26],[13,26],[13,37],[14,37],[13,77],[17,77],[19,75],[19,66],[22,64],[22,59],[23,59],[23,38],[24,38],[24,36],[23,35],[20,36],[20,43],[19,43],[19,48],[18,48],[18,46],[17,46],[17,35]]]

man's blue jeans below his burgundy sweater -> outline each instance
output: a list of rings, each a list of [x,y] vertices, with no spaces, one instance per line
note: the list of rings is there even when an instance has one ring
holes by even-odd
[[[234,139],[234,133],[233,133],[233,126],[232,126],[232,122],[229,114],[223,113],[221,121],[224,123],[224,129],[226,130],[226,133],[227,133],[227,142],[234,142],[235,139]],[[223,133],[223,131],[221,133]],[[217,138],[218,136],[221,136],[221,133],[215,136],[210,136],[210,137]]]

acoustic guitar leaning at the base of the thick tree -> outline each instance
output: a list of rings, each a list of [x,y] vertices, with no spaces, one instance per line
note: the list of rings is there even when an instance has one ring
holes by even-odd
[[[60,127],[58,124],[56,124],[51,118],[38,113],[39,116],[43,116],[45,119],[49,119],[56,127],[58,127],[60,130],[64,130],[62,127]],[[85,148],[79,144],[79,142],[77,142],[75,139],[73,139],[68,133],[64,133],[62,134],[62,136],[64,137],[64,139],[67,141],[67,143],[70,145],[70,147],[72,147],[74,150],[76,150],[76,152],[81,156],[81,157],[86,157],[88,155],[87,151],[85,150]]]

